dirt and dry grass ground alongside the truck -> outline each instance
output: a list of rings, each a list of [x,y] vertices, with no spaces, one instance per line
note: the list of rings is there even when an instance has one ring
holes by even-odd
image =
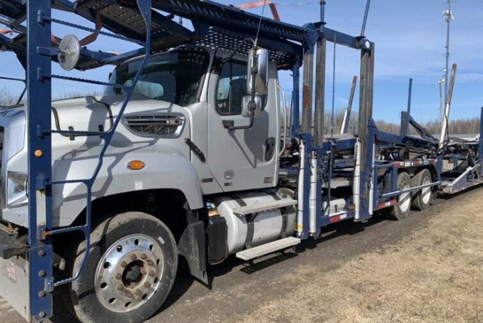
[[[402,221],[332,225],[301,253],[211,267],[209,287],[181,271],[149,322],[483,322],[482,197],[480,187]],[[22,322],[1,300],[0,320]]]

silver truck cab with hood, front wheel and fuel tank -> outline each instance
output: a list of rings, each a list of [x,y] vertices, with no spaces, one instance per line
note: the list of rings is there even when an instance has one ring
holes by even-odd
[[[116,223],[113,219],[131,221],[132,226],[117,223],[113,230],[121,227],[124,233],[114,234],[119,239],[105,246],[101,255],[87,255],[87,269],[82,272],[77,273],[78,255],[69,251],[77,248],[76,239],[64,236],[54,248],[59,271],[77,273],[80,284],[93,285],[97,298],[89,303],[102,306],[105,315],[138,313],[151,299],[160,301],[154,294],[160,284],[172,285],[176,267],[170,264],[177,263],[176,254],[188,260],[193,275],[206,281],[207,263],[294,232],[294,194],[276,188],[281,150],[277,64],[265,57],[254,67],[258,54],[251,55],[180,46],[147,59],[90,193],[94,231],[106,230],[106,225]],[[52,102],[52,126],[57,130],[52,133],[52,181],[59,181],[52,187],[52,226],[57,230],[82,225],[88,192],[77,179],[94,173],[103,148],[102,133],[114,126],[125,88],[135,82],[143,59],[129,59],[114,68],[109,82],[116,85],[106,87],[102,96]],[[265,80],[253,82],[261,81],[262,93],[251,84],[257,77],[253,68],[265,68],[260,70]],[[1,114],[0,123],[5,134],[1,220],[22,235],[29,227],[27,110],[10,108]],[[165,234],[157,241],[170,243],[153,248],[156,233],[149,236],[133,229],[149,221]],[[132,246],[134,241],[140,245]],[[115,259],[114,247],[119,250]],[[163,258],[168,261],[164,269]],[[100,263],[104,265],[94,268]],[[154,280],[143,273],[149,263],[160,264],[158,271],[149,271]],[[163,271],[170,274],[163,276]],[[116,286],[119,275],[124,283]],[[72,286],[78,293],[82,289],[77,287],[84,285]],[[78,317],[86,315],[82,306],[74,309]]]

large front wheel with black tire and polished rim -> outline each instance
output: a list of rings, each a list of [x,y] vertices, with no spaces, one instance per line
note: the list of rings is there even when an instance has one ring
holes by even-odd
[[[71,277],[84,250],[85,241],[71,259]],[[177,266],[176,241],[161,220],[119,213],[91,232],[87,263],[66,296],[80,322],[144,322],[168,296]]]

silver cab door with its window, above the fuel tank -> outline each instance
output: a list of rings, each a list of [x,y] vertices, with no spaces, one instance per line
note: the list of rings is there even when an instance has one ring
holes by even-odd
[[[221,59],[218,58],[218,62]],[[248,129],[229,131],[228,126],[244,126],[241,116],[246,93],[246,62],[231,60],[213,69],[209,83],[208,156],[214,179],[224,191],[276,186],[278,181],[279,114],[274,66],[269,68],[268,94],[260,117]]]

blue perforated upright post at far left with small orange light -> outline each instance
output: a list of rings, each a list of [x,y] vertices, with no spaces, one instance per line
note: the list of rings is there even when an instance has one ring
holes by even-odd
[[[32,321],[52,316],[51,1],[27,1],[27,136],[29,192],[29,278]],[[43,54],[40,54],[43,53]]]

